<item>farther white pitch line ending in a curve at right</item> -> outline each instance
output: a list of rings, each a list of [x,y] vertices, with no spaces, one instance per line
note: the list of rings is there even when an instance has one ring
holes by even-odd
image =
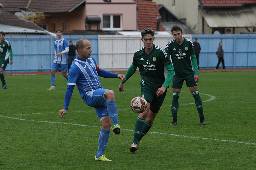
[[[187,91],[185,91],[187,92]],[[188,92],[190,93],[190,92]],[[202,95],[205,95],[205,96],[209,96],[210,99],[208,100],[204,100],[202,102],[210,102],[212,100],[215,99],[215,96],[212,96],[212,95],[209,95],[209,94],[204,94],[204,93],[200,93]],[[182,105],[190,105],[190,104],[195,104],[195,103],[185,103],[185,104],[179,104],[179,106],[182,106]],[[172,105],[165,105],[165,106],[161,106],[161,107],[170,107]],[[118,110],[130,110],[131,108],[126,108],[126,109],[118,109]],[[86,111],[68,111],[68,113],[79,113],[79,112],[95,112],[95,110],[86,110]],[[39,115],[39,114],[45,114],[45,113],[29,113],[29,114],[13,114],[13,115],[2,115],[2,116],[17,116],[17,115]],[[47,112],[47,114],[58,114],[58,112]],[[1,116],[1,115],[0,115]]]

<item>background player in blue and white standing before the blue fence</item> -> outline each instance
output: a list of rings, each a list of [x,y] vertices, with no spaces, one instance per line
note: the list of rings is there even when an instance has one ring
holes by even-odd
[[[55,90],[55,74],[61,69],[62,75],[68,79],[68,41],[62,37],[62,30],[57,29],[56,35],[58,39],[54,42],[55,57],[51,68],[51,87],[48,91]]]

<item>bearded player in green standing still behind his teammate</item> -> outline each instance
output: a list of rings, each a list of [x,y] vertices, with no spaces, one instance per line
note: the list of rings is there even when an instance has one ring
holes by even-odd
[[[177,113],[179,108],[180,90],[184,80],[189,87],[192,96],[195,98],[196,108],[199,113],[199,124],[205,124],[203,114],[203,105],[199,92],[197,91],[197,82],[199,81],[198,67],[193,43],[190,39],[182,38],[181,28],[177,25],[172,27],[173,40],[169,41],[165,50],[170,54],[175,70],[172,80],[172,118],[171,125],[177,125]]]

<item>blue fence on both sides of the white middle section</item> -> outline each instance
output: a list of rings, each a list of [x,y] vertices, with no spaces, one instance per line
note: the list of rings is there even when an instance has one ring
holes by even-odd
[[[64,35],[63,37],[68,41],[72,40],[73,44],[76,44],[78,39],[88,39],[92,44],[92,56],[98,62],[98,35]],[[220,42],[223,44],[227,68],[256,68],[256,34],[193,34],[192,41],[195,37],[201,46],[199,54],[201,69],[216,67],[218,57],[215,53]],[[13,64],[8,65],[5,72],[48,72],[51,70],[55,37],[6,35],[5,39],[11,43],[13,50]]]

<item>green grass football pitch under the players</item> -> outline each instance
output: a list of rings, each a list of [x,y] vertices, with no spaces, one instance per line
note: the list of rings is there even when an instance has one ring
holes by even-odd
[[[105,155],[113,162],[97,162],[100,122],[75,88],[63,119],[67,81],[56,75],[5,76],[1,90],[0,169],[255,169],[256,74],[255,72],[200,73],[198,91],[206,125],[199,125],[194,98],[183,84],[178,125],[170,126],[172,92],[168,89],[154,125],[131,153],[137,114],[130,101],[140,96],[140,75],[134,74],[125,91],[119,79],[101,78],[115,91],[121,134],[110,133]],[[192,104],[191,104],[192,103]]]

